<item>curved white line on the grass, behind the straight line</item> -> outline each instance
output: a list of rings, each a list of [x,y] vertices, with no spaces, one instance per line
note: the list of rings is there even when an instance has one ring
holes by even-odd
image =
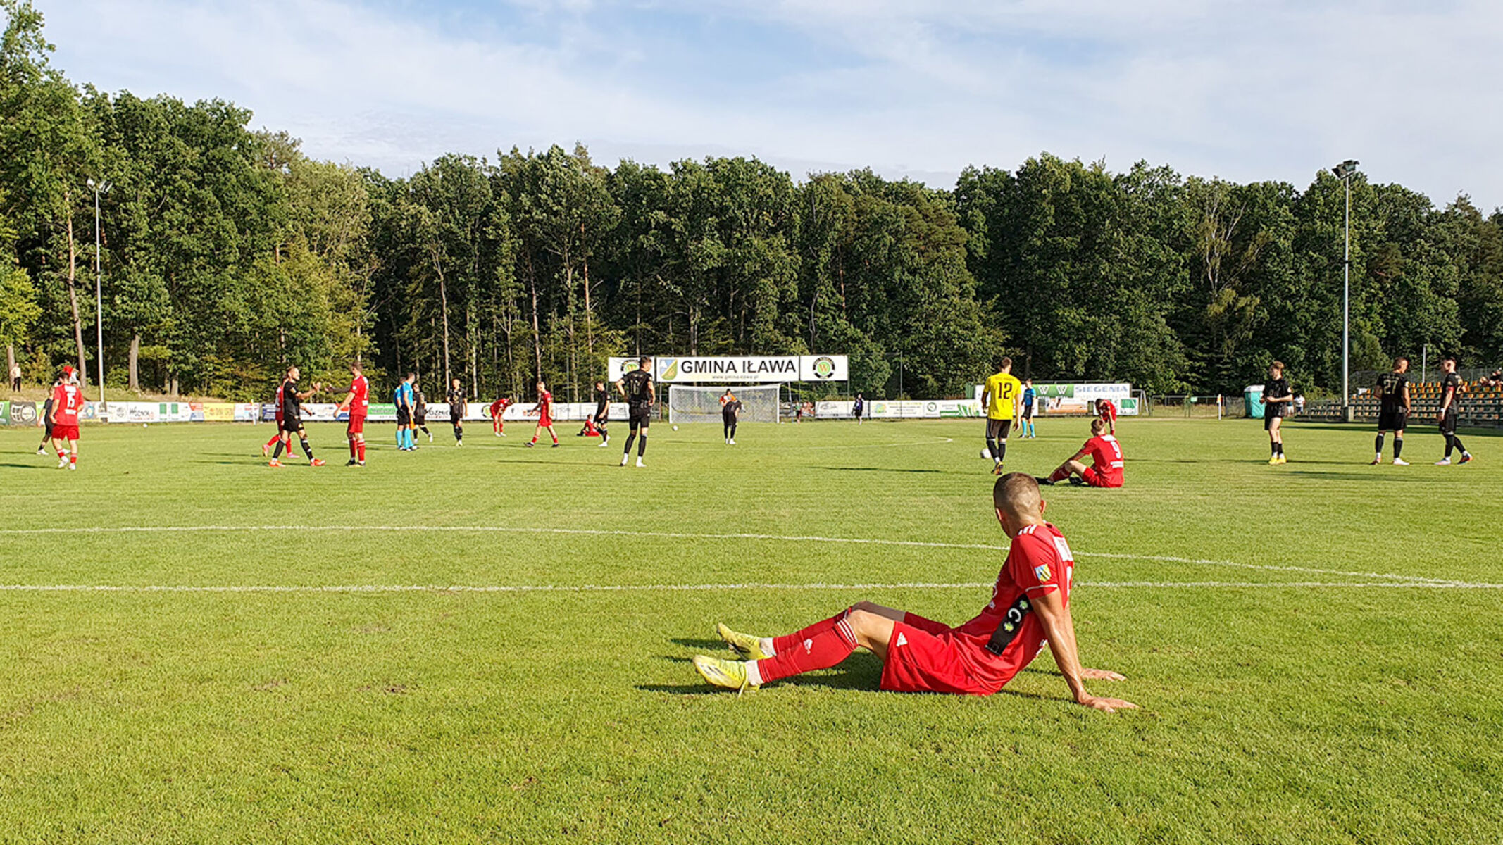
[[[932,540],[875,540],[866,537],[819,537],[785,534],[696,534],[682,531],[621,531],[606,528],[537,528],[504,525],[123,525],[84,528],[0,528],[0,535],[26,534],[161,534],[161,532],[212,532],[212,531],[476,531],[499,534],[567,534],[585,537],[654,537],[667,540],[773,540],[779,543],[849,543],[854,546],[903,546],[914,549],[975,549],[983,552],[1007,552],[1007,546],[990,543],[939,543]],[[1202,567],[1232,567],[1263,571],[1290,571],[1306,574],[1336,574],[1356,579],[1386,579],[1411,583],[1464,583],[1452,579],[1420,577],[1396,573],[1363,573],[1347,570],[1323,570],[1314,567],[1288,567],[1273,564],[1240,564],[1235,561],[1211,561],[1205,558],[1177,558],[1172,555],[1135,555],[1124,552],[1075,552],[1079,558],[1108,558],[1124,561],[1151,561],[1162,564],[1187,564]]]

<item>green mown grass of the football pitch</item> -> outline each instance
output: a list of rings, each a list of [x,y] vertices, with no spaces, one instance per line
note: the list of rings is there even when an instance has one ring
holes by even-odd
[[[648,469],[470,427],[370,466],[260,463],[266,426],[89,427],[78,472],[0,432],[6,585],[990,582],[977,421],[655,427]],[[561,429],[567,429],[561,426]],[[1084,441],[1045,421],[1009,466]],[[568,432],[571,435],[571,432]],[[0,591],[6,842],[1497,842],[1503,439],[1366,466],[1369,427],[1127,419],[1127,487],[1052,489],[1082,660],[990,698],[875,692],[845,665],[747,693],[688,665],[715,621],[785,633],[870,598],[960,622],[987,588],[586,592]],[[89,526],[403,529],[17,534]],[[598,529],[604,534],[473,531]],[[619,534],[618,534],[619,532]],[[1100,556],[1121,555],[1121,556]],[[1261,567],[1243,568],[1207,559]],[[1359,573],[1359,574],[1336,574]],[[1237,582],[1257,586],[1145,586]],[[1118,585],[1118,586],[1112,586]],[[711,651],[718,653],[718,651]]]

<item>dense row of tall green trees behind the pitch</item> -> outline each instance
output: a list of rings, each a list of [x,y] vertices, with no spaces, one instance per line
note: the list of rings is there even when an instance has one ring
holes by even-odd
[[[0,343],[132,389],[263,398],[283,367],[583,395],[606,358],[846,353],[851,391],[1034,379],[1235,392],[1282,359],[1341,385],[1344,185],[1303,191],[1042,153],[953,189],[755,158],[316,161],[224,101],[105,93],[0,0]],[[108,185],[108,189],[102,188]],[[99,201],[95,275],[95,198]],[[1351,182],[1351,367],[1503,358],[1503,214]]]

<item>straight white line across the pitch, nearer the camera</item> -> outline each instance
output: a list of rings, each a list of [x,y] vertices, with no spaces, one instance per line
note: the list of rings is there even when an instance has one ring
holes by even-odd
[[[517,583],[517,585],[424,585],[424,583],[335,583],[335,585],[114,585],[114,583],[0,583],[0,592],[729,592],[735,589],[984,589],[986,582],[959,583]],[[1285,589],[1285,588],[1387,588],[1387,589],[1503,589],[1503,583],[1395,583],[1324,580],[1099,580],[1078,582],[1091,588],[1148,589]]]

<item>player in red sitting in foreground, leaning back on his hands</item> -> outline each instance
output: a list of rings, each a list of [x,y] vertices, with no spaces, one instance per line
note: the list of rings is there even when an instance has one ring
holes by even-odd
[[[992,507],[1012,549],[996,576],[992,601],[969,622],[951,628],[861,601],[780,638],[756,638],[718,625],[720,638],[748,660],[700,656],[694,657],[694,669],[718,687],[745,689],[828,669],[857,648],[866,648],[882,660],[884,690],[992,695],[1048,642],[1076,702],[1106,713],[1136,707],[1085,690],[1085,678],[1123,677],[1081,668],[1070,621],[1075,559],[1064,535],[1043,519],[1039,484],[1021,472],[1003,475],[992,487]]]

